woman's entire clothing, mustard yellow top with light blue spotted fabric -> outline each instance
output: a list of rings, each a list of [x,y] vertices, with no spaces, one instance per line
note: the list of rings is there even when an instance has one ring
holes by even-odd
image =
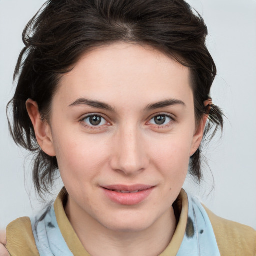
[[[10,255],[89,256],[65,214],[66,200],[62,189],[43,213],[11,222],[7,226]],[[184,190],[176,203],[181,206],[179,221],[160,256],[256,255],[256,231],[252,228],[217,217]]]

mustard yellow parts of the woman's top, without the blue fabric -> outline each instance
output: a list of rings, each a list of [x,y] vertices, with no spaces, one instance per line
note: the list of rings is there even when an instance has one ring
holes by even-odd
[[[64,206],[67,200],[67,193],[62,189],[54,202],[54,211],[57,223],[67,246],[75,256],[90,256],[81,244],[73,227],[71,226]],[[184,190],[181,190],[176,200],[176,210],[179,220],[174,235],[159,256],[174,256],[177,254],[182,243],[188,216],[188,199]],[[221,256],[246,255],[256,256],[256,231],[251,227],[225,220],[214,215],[204,207],[215,233],[217,245]],[[39,256],[35,245],[30,218],[22,217],[12,221],[6,228],[7,249],[11,256]]]

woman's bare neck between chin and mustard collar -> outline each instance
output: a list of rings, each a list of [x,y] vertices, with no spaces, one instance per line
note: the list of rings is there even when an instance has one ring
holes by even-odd
[[[65,211],[82,245],[93,256],[159,255],[176,228],[172,207],[148,228],[135,231],[108,229],[69,199]]]

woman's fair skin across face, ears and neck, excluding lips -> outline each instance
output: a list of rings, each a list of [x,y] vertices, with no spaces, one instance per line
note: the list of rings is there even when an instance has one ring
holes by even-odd
[[[39,145],[57,157],[69,194],[65,211],[87,251],[161,253],[175,231],[172,204],[207,119],[195,125],[189,69],[149,46],[106,45],[62,76],[48,121],[31,99],[27,110]],[[89,115],[102,116],[99,125]],[[113,184],[153,188],[142,202],[123,205],[105,195],[102,187]]]

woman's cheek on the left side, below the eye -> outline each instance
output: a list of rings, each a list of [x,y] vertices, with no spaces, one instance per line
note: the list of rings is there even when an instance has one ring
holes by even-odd
[[[60,137],[55,141],[55,150],[63,182],[89,180],[97,175],[108,159],[107,141],[75,133],[65,139]]]

